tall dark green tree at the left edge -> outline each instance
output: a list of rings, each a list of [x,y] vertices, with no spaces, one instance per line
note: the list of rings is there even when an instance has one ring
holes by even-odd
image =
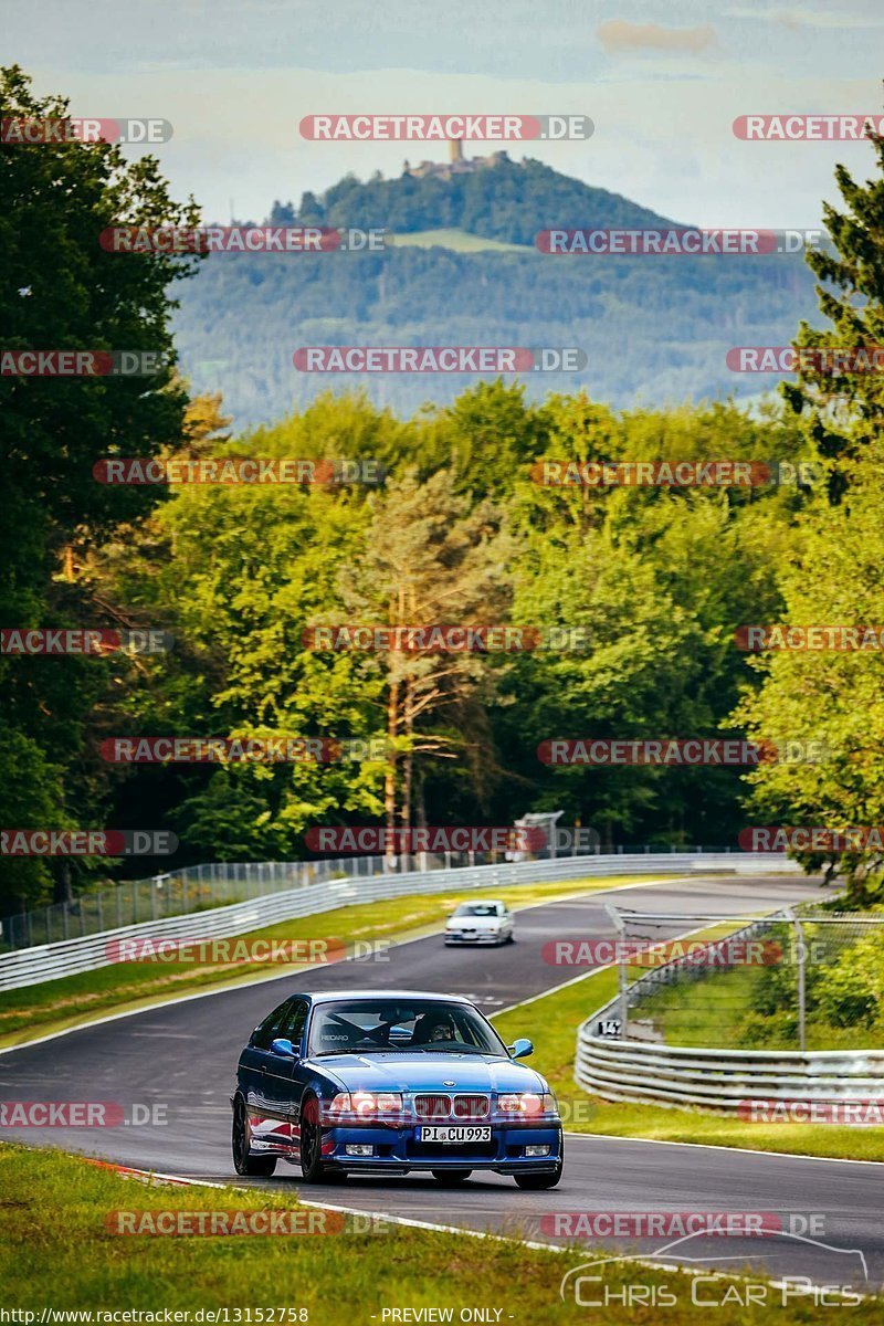
[[[60,97],[36,97],[19,66],[0,70],[0,115],[65,119]],[[184,392],[174,379],[170,282],[193,260],[105,252],[115,223],[192,224],[193,204],[168,195],[156,160],[127,163],[115,146],[76,141],[0,154],[0,318],[5,350],[148,350],[148,377],[0,377],[7,538],[0,550],[4,626],[103,626],[80,582],[85,550],[156,500],[150,489],[97,483],[102,456],[150,456],[180,435]],[[94,823],[107,781],[94,758],[95,707],[118,678],[95,658],[3,656],[5,749],[20,768],[0,778],[0,822]],[[36,780],[30,809],[11,789]],[[21,814],[25,814],[24,822]],[[0,908],[42,894],[48,871],[0,859]],[[65,876],[56,876],[60,888]],[[24,890],[24,891],[23,891]]]

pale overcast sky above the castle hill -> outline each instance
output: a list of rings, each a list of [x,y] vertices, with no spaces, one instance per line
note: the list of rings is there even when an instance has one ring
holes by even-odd
[[[840,7],[840,12],[839,12]],[[747,113],[883,110],[877,0],[0,0],[3,62],[76,115],[174,123],[155,149],[205,220],[266,215],[347,171],[398,175],[441,145],[317,143],[313,113],[582,113],[588,142],[524,149],[676,220],[815,225],[864,143],[753,143]],[[476,145],[468,154],[496,150]],[[550,217],[550,224],[557,223]]]

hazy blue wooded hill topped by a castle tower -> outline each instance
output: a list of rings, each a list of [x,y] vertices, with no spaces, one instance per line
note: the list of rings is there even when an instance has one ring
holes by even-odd
[[[274,203],[273,224],[383,227],[384,252],[211,255],[176,288],[180,365],[223,391],[237,427],[269,422],[326,390],[364,390],[411,414],[476,377],[307,374],[309,345],[577,346],[579,373],[527,374],[533,396],[584,389],[616,407],[757,395],[775,381],[736,374],[728,350],[787,345],[816,313],[801,255],[554,257],[547,228],[675,225],[630,199],[505,151],[349,175],[325,194]],[[243,223],[240,223],[243,224]],[[681,221],[681,224],[687,224]]]

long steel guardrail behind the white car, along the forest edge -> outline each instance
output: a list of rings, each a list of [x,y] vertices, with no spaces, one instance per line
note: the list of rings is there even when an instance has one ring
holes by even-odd
[[[19,989],[38,981],[74,976],[77,972],[109,967],[115,960],[113,940],[151,935],[158,939],[225,939],[244,935],[280,920],[296,920],[346,907],[351,903],[378,902],[403,894],[464,892],[469,888],[502,888],[513,884],[531,884],[543,880],[569,880],[606,875],[663,875],[684,874],[685,870],[790,870],[794,862],[782,855],[729,854],[729,853],[665,853],[616,854],[608,857],[561,857],[555,861],[526,861],[500,866],[472,866],[459,870],[404,874],[378,874],[363,879],[329,879],[317,884],[304,884],[265,898],[215,907],[211,911],[170,916],[164,920],[122,926],[99,935],[61,940],[36,948],[0,955],[0,991]],[[346,936],[341,936],[346,937]],[[109,952],[110,951],[110,952]]]

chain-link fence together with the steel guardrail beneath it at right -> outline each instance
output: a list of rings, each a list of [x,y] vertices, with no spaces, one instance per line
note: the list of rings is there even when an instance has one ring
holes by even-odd
[[[584,1091],[606,1101],[700,1106],[762,1120],[775,1115],[777,1106],[787,1109],[785,1118],[810,1116],[812,1107],[824,1106],[828,1122],[851,1122],[848,1107],[854,1113],[875,1107],[877,1122],[884,1122],[884,1050],[804,1049],[808,984],[812,989],[816,975],[839,959],[850,960],[852,945],[868,936],[879,943],[884,916],[831,912],[804,903],[740,924],[740,918],[722,914],[641,914],[607,907],[618,934],[611,965],[618,969],[619,991],[578,1028],[574,1078]],[[702,935],[697,935],[697,922],[705,923]],[[710,937],[714,923],[726,926],[728,934]],[[657,963],[655,945],[659,953],[671,951],[672,935],[663,937],[663,931],[685,940],[692,934],[697,937],[679,945],[677,957]],[[630,983],[627,973],[636,961],[653,965]],[[701,1025],[709,1032],[714,1025],[709,1010],[721,1010],[721,977],[737,967],[751,971],[759,981],[775,973],[774,993],[782,998],[785,992],[790,1001],[786,1016],[794,1018],[798,1049],[672,1042],[679,1029],[684,1033],[691,1026],[691,1014],[698,1008]],[[704,983],[702,1001],[697,983]],[[744,998],[747,989],[751,994],[751,984],[741,987]],[[721,1041],[733,1046],[733,1026],[729,1033]],[[797,1107],[804,1114],[797,1114]]]

